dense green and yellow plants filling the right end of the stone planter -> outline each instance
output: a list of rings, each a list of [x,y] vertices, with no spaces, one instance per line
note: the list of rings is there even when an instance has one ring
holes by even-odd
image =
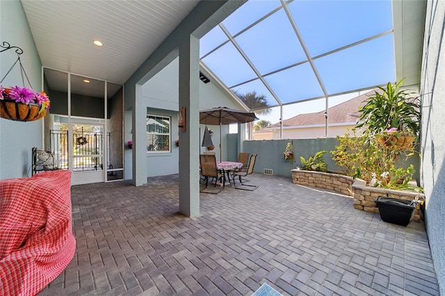
[[[388,83],[387,88],[378,87],[357,110],[360,123],[356,128],[363,128],[362,135],[353,129],[353,135],[337,137],[339,145],[331,154],[348,176],[361,178],[368,186],[422,191],[412,185],[416,170],[406,162],[416,153],[421,101],[414,91],[400,90],[402,83],[403,79]]]

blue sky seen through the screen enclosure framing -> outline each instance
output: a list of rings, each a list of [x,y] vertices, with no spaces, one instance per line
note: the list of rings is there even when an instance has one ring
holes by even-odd
[[[264,94],[284,119],[394,82],[391,1],[250,0],[200,40],[202,63],[236,92]],[[277,109],[277,110],[275,110]],[[280,120],[280,108],[268,116]]]

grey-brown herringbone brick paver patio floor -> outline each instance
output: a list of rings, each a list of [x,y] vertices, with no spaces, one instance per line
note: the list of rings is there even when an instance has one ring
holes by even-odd
[[[253,174],[255,191],[200,194],[178,213],[178,176],[72,186],[76,254],[39,295],[439,295],[422,222]]]

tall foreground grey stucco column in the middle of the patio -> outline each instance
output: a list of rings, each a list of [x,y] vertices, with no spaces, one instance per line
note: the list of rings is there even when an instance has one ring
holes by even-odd
[[[189,36],[179,46],[179,110],[186,108],[186,131],[179,127],[179,213],[200,214],[200,40]]]

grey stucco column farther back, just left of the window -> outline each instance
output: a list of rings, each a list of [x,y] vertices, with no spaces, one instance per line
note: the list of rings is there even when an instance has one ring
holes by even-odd
[[[142,97],[142,85],[136,84],[132,107],[133,185],[147,183],[147,106]]]

